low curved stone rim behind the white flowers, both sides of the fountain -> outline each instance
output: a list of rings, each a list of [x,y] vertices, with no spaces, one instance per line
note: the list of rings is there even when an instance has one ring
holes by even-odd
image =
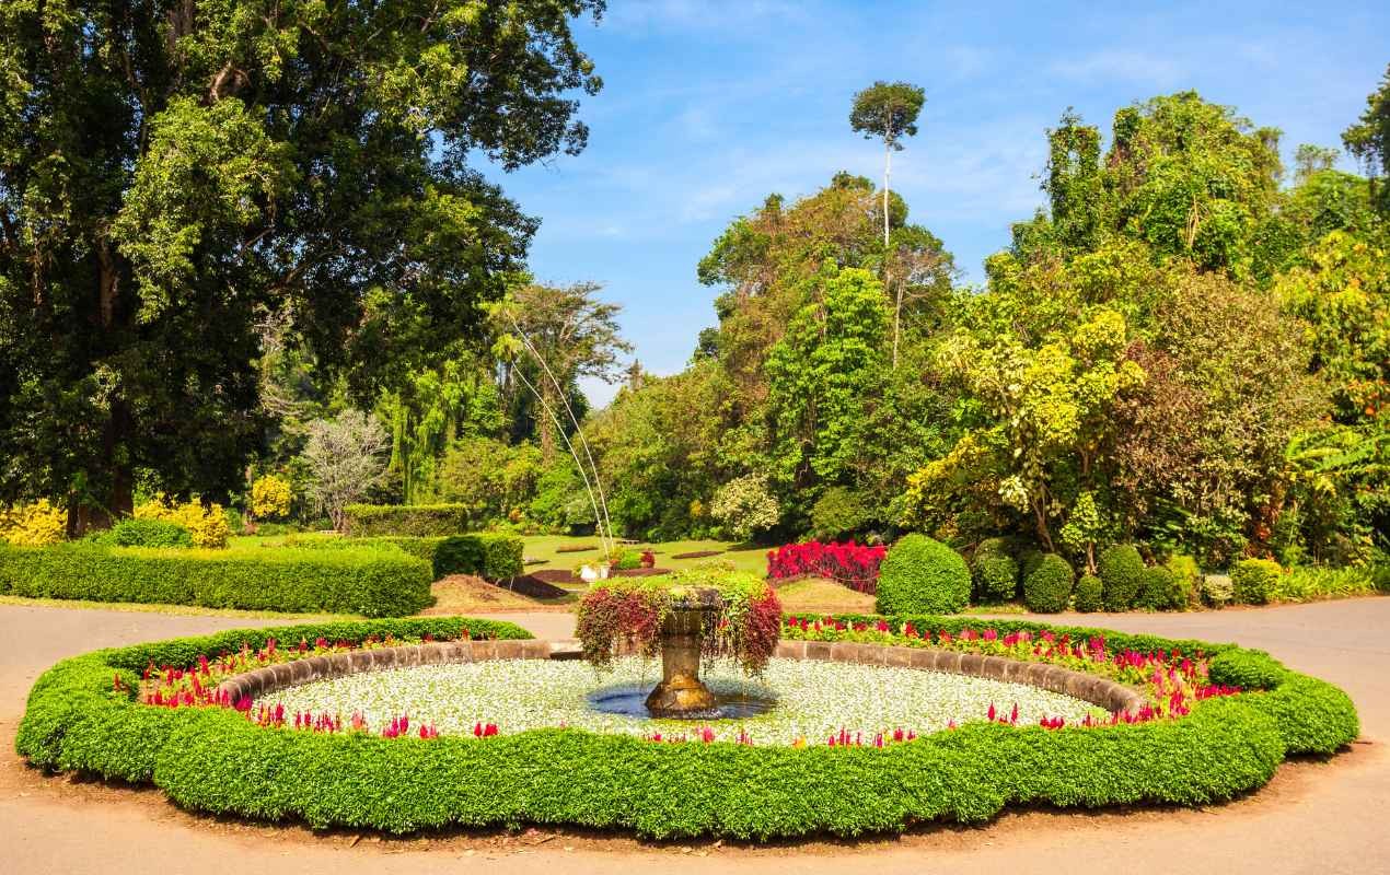
[[[480,662],[482,660],[549,660],[573,658],[575,647],[569,642],[543,640],[467,640],[377,647],[329,656],[291,660],[235,675],[217,685],[234,701],[261,696],[278,689],[311,681],[341,678],[364,671],[410,668],[416,665],[443,665],[450,662]],[[1072,696],[1099,706],[1112,714],[1137,711],[1148,704],[1141,693],[1125,685],[1086,672],[1072,671],[1047,662],[1023,662],[979,653],[937,650],[933,647],[894,647],[890,644],[855,644],[849,642],[778,642],[774,656],[785,660],[817,660],[823,662],[858,662],[862,665],[891,665],[944,671],[972,678],[1026,683],[1040,689]]]

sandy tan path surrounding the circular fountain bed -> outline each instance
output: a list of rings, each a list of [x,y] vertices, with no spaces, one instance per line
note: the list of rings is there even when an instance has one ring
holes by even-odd
[[[567,638],[569,614],[499,614]],[[566,831],[391,839],[188,814],[157,790],[44,776],[14,753],[35,678],[54,661],[139,640],[271,621],[0,606],[0,872],[1387,872],[1390,599],[1176,615],[1088,615],[1084,625],[1236,640],[1341,685],[1362,739],[1329,762],[1284,764],[1265,789],[1204,810],[1006,814],[901,838],[737,846],[657,844]]]

